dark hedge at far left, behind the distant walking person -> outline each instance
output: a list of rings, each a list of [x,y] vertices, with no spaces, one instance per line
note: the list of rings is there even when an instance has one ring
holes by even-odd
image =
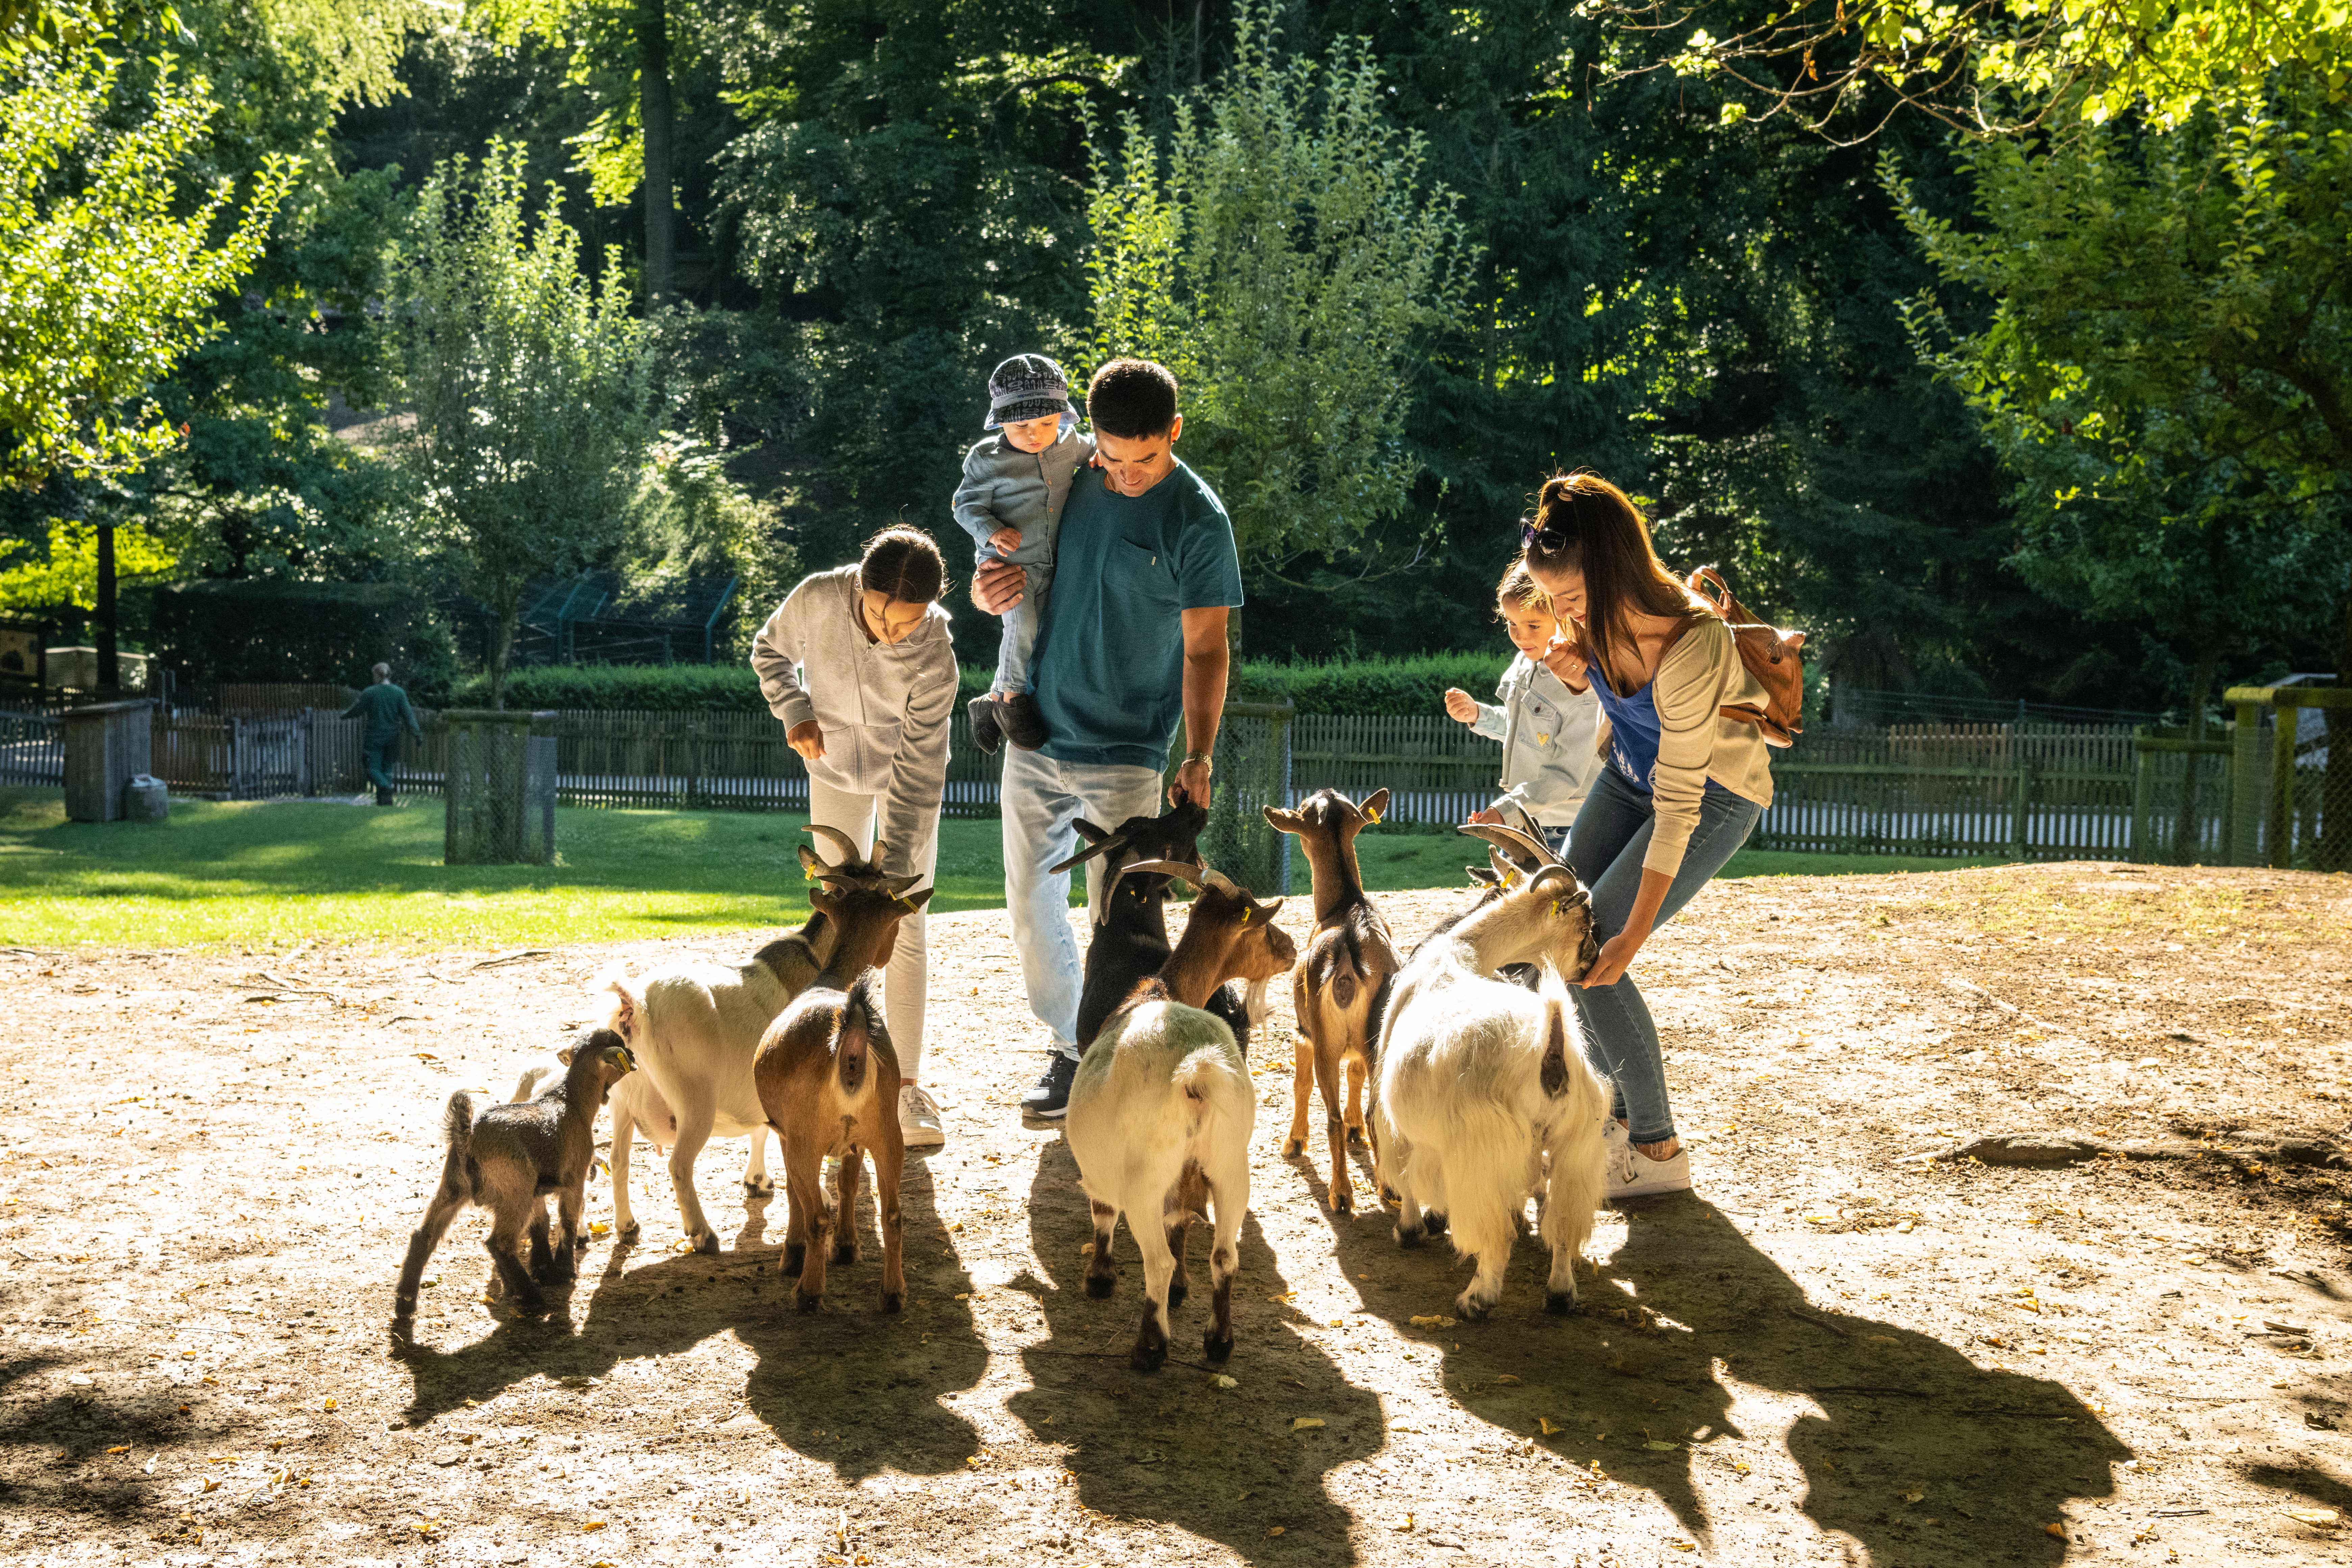
[[[412,696],[433,701],[456,665],[433,602],[402,583],[207,578],[143,597],[148,651],[193,682],[365,686],[383,661]]]

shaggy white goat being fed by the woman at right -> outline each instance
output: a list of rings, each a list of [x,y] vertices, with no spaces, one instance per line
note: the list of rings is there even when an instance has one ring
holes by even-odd
[[[1454,1300],[1463,1316],[1486,1316],[1501,1300],[1529,1190],[1552,1248],[1545,1309],[1576,1309],[1576,1258],[1604,1190],[1609,1086],[1585,1063],[1562,978],[1583,976],[1595,957],[1585,889],[1550,860],[1425,940],[1390,994],[1378,1178],[1399,1199],[1399,1246],[1421,1244],[1428,1206],[1444,1211],[1454,1248],[1477,1260]],[[1491,978],[1529,961],[1543,966],[1536,992]]]

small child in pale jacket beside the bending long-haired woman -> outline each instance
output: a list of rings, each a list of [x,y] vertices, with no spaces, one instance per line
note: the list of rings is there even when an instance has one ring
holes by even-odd
[[[1566,856],[1569,825],[1592,792],[1602,762],[1602,703],[1592,686],[1569,686],[1538,661],[1559,635],[1559,618],[1522,562],[1496,585],[1496,616],[1519,656],[1503,670],[1494,703],[1446,691],[1446,715],[1503,743],[1503,795],[1472,823],[1526,827]]]

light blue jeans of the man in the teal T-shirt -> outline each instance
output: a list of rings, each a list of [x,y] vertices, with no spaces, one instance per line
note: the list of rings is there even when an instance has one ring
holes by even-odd
[[[1160,813],[1160,769],[1110,762],[1056,762],[1044,752],[1007,750],[1000,795],[1004,813],[1004,905],[1028,983],[1030,1011],[1054,1032],[1054,1048],[1077,1056],[1077,999],[1087,983],[1070,936],[1070,872],[1049,872],[1082,844],[1073,823],[1117,827]],[[1101,877],[1087,863],[1089,924],[1101,914]]]

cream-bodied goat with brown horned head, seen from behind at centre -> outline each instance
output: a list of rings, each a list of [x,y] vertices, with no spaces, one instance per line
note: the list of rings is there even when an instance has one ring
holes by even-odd
[[[1256,1105],[1232,1027],[1200,1004],[1232,978],[1272,980],[1298,961],[1298,950],[1275,929],[1279,903],[1261,905],[1218,872],[1176,860],[1141,860],[1127,870],[1204,884],[1160,976],[1134,987],[1080,1058],[1063,1131],[1094,1211],[1087,1295],[1112,1291],[1110,1234],[1122,1213],[1143,1253],[1143,1326],[1129,1366],[1148,1373],[1169,1356],[1169,1307],[1183,1300],[1185,1237],[1211,1206],[1214,1324],[1202,1349],[1209,1361],[1232,1354],[1232,1274],[1249,1208]]]

